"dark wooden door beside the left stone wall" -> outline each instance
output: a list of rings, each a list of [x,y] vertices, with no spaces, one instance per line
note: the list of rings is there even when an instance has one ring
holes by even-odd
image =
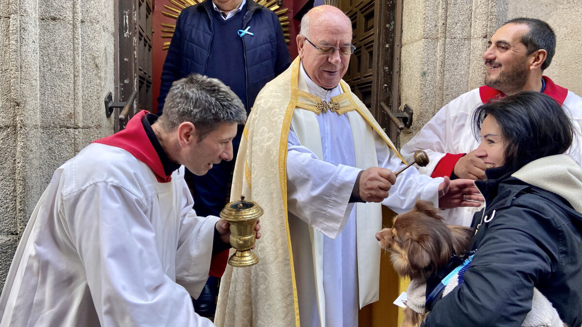
[[[151,0],[118,0],[116,23],[115,97],[117,101],[127,101],[137,92],[125,119],[116,119],[115,131],[119,131],[134,113],[152,109]]]

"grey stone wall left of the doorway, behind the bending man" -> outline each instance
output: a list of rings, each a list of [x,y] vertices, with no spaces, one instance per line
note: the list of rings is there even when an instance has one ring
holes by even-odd
[[[0,288],[52,172],[113,132],[113,0],[0,2]]]

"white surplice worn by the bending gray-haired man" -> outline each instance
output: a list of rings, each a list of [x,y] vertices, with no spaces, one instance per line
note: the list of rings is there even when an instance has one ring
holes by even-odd
[[[214,326],[194,312],[214,225],[184,167],[160,183],[122,148],[91,144],[56,169],[16,250],[0,326]]]

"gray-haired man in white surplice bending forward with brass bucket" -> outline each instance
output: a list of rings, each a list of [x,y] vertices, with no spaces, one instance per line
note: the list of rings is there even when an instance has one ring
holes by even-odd
[[[10,267],[0,325],[212,325],[190,296],[225,268],[228,223],[196,215],[183,166],[204,175],[232,159],[246,111],[222,82],[190,75],[164,113],[138,113],[55,171]]]

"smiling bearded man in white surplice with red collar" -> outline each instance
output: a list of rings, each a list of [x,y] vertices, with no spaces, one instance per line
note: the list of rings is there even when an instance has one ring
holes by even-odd
[[[475,88],[443,106],[416,136],[402,147],[404,159],[414,151],[427,152],[430,162],[421,173],[450,179],[486,179],[488,168],[475,155],[479,141],[473,137],[472,116],[475,108],[488,101],[516,94],[538,91],[549,95],[572,119],[574,129],[582,130],[582,98],[553,83],[544,70],[552,62],[556,36],[551,27],[538,19],[509,20],[495,32],[482,55],[485,63],[485,86]],[[582,148],[578,137],[566,152],[576,163],[582,163]],[[476,210],[454,208],[442,213],[450,225],[469,226]]]

